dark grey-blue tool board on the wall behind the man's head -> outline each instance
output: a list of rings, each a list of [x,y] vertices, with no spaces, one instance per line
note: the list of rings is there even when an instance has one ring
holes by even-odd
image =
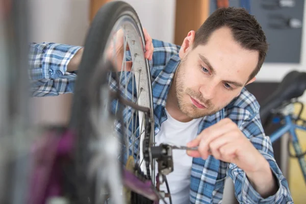
[[[267,63],[300,63],[304,0],[230,0],[246,8],[261,24],[270,44]],[[217,8],[211,0],[210,13]]]

